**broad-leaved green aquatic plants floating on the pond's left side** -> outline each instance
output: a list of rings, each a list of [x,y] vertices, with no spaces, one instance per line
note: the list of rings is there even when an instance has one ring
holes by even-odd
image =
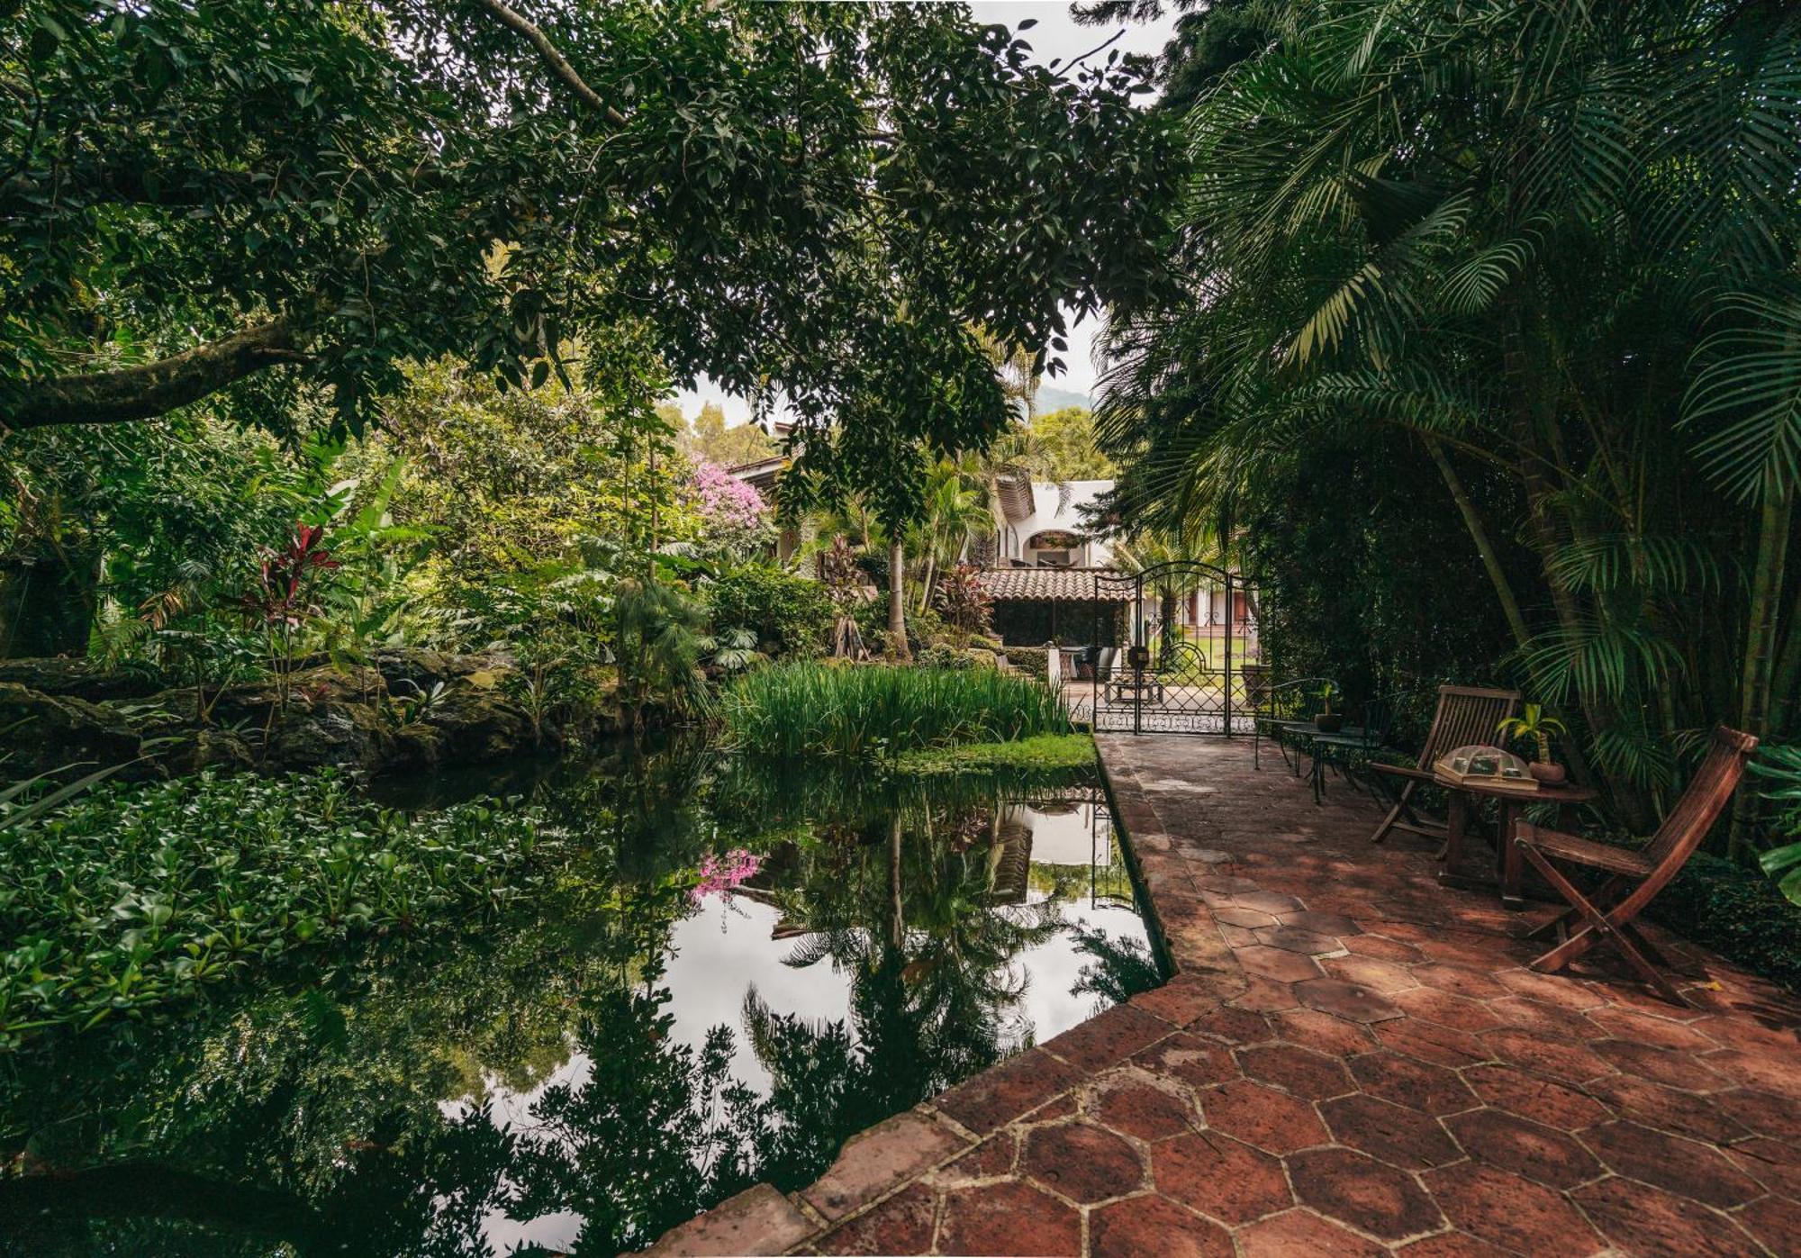
[[[517,804],[517,802],[513,802]],[[103,784],[0,811],[0,1049],[187,997],[308,946],[443,930],[535,890],[542,813],[409,816],[331,770]]]

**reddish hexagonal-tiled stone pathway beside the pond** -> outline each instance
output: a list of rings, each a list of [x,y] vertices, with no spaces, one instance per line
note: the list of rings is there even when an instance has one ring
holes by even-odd
[[[1536,975],[1367,797],[1097,743],[1178,975],[650,1253],[1801,1253],[1797,1002],[1662,932],[1704,1009]]]

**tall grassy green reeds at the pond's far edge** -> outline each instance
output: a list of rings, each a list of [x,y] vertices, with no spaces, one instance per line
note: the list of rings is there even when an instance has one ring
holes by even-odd
[[[884,757],[1070,732],[1045,683],[991,669],[780,663],[733,681],[722,714],[733,741],[764,755]]]

